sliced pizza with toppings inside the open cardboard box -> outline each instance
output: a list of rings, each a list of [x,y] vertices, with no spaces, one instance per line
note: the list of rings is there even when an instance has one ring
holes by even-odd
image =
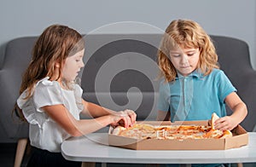
[[[113,129],[113,135],[134,139],[184,140],[184,139],[223,139],[231,137],[230,130],[216,130],[214,121],[218,119],[212,114],[211,125],[152,125],[134,124],[129,128],[118,126]]]

